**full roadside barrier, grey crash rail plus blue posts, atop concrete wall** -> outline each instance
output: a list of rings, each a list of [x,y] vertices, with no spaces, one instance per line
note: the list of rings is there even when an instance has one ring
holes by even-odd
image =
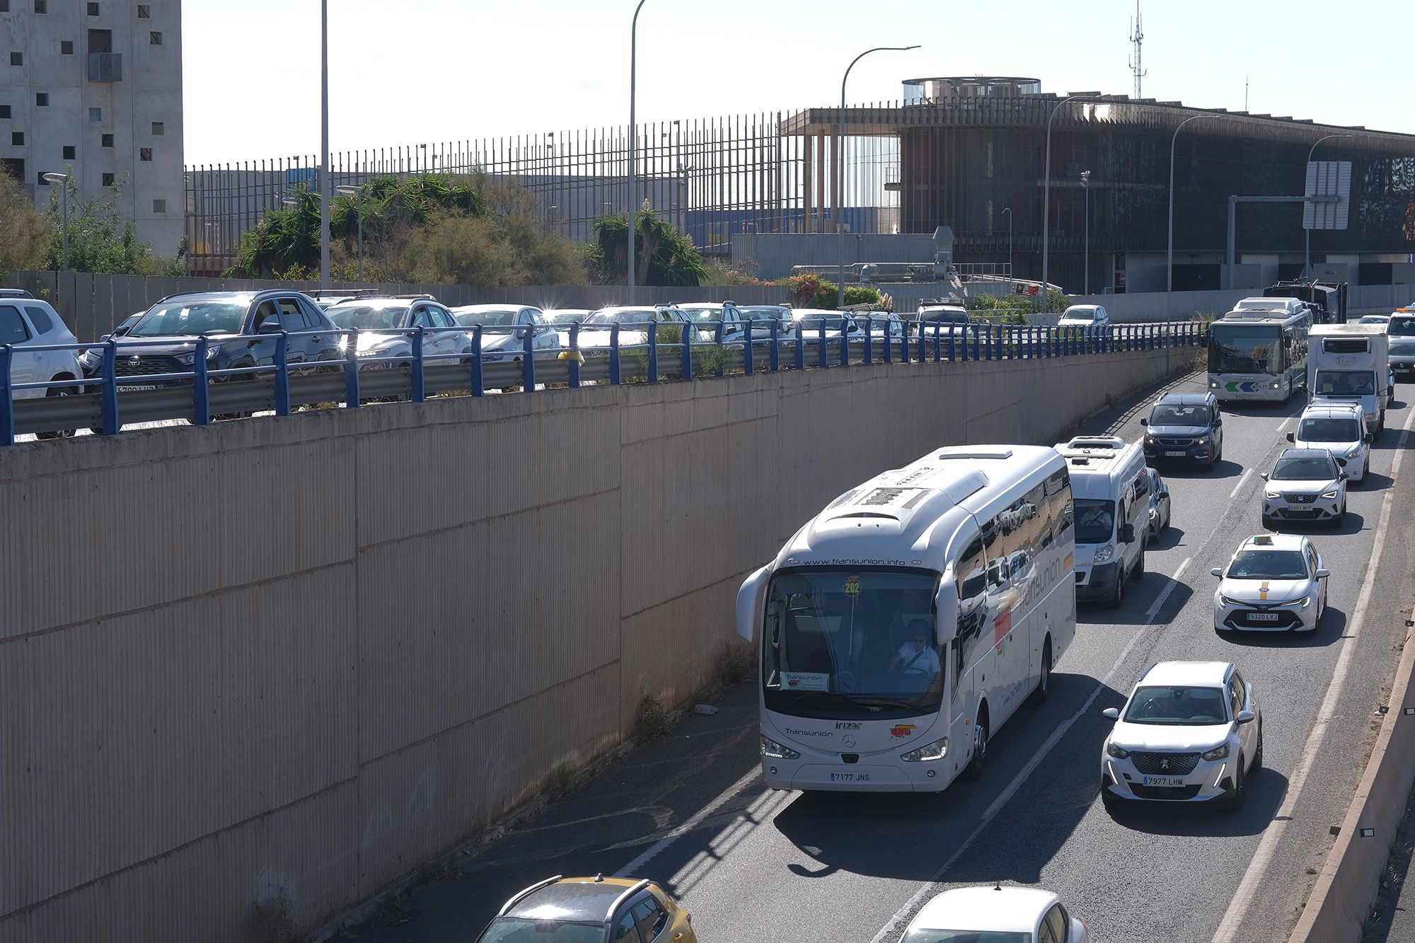
[[[463,334],[461,351],[427,353],[429,337],[447,331]],[[488,389],[516,387],[536,392],[538,385],[579,388],[587,384],[657,384],[669,379],[729,372],[825,370],[860,364],[968,362],[1037,360],[1107,354],[1169,347],[1203,347],[1207,330],[1199,321],[1118,324],[1101,328],[1003,324],[901,323],[886,319],[802,319],[782,328],[781,321],[756,323],[750,343],[733,334],[734,326],[712,323],[616,323],[607,330],[572,324],[567,345],[536,348],[531,330],[509,327],[398,328],[340,331],[341,357],[318,361],[290,360],[296,337],[328,331],[276,331],[241,337],[195,337],[190,353],[177,354],[191,370],[119,375],[119,348],[136,361],[144,348],[174,347],[171,338],[109,338],[96,344],[0,345],[0,446],[16,436],[72,435],[76,429],[116,435],[123,423],[187,419],[205,426],[215,419],[260,411],[290,412],[320,405],[358,408],[382,399],[423,402],[430,395],[464,391],[473,396]],[[743,328],[736,327],[740,334]],[[634,333],[624,343],[625,333]],[[686,331],[686,343],[685,343]],[[726,333],[726,336],[724,336]],[[405,336],[406,350],[379,353],[359,337]],[[511,345],[495,340],[512,334]],[[606,336],[607,340],[599,340]],[[590,343],[582,343],[589,336]],[[642,340],[638,340],[638,338]],[[705,337],[708,340],[705,340]],[[216,345],[273,345],[265,362],[214,368],[208,364]],[[95,364],[85,377],[13,382],[17,353],[79,351]],[[164,354],[171,357],[173,354]],[[91,374],[91,375],[89,375]],[[41,395],[17,394],[42,389]]]

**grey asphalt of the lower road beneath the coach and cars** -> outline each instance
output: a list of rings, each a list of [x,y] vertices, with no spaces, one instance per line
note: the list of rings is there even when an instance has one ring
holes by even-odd
[[[1310,528],[1332,571],[1313,636],[1213,630],[1208,571],[1261,530],[1258,471],[1286,445],[1300,404],[1225,409],[1224,462],[1211,473],[1162,470],[1173,524],[1150,545],[1146,576],[1122,609],[1080,610],[1051,697],[998,732],[979,780],[941,796],[773,793],[757,775],[749,684],[722,698],[719,714],[688,715],[671,736],[463,858],[458,876],[417,888],[340,939],[470,940],[516,889],[594,872],[664,882],[692,910],[703,943],[893,942],[938,891],[993,881],[1056,891],[1101,943],[1285,939],[1344,817],[1405,639],[1415,496],[1394,490],[1391,473],[1402,429],[1415,423],[1407,395],[1415,388],[1398,388],[1347,521]],[[1150,398],[1077,432],[1133,440],[1135,411]],[[1415,469],[1405,462],[1401,476]],[[1390,525],[1377,548],[1387,496]],[[1241,811],[1112,817],[1098,800],[1111,724],[1101,711],[1122,704],[1145,665],[1169,658],[1231,660],[1254,684],[1265,769],[1249,779]]]

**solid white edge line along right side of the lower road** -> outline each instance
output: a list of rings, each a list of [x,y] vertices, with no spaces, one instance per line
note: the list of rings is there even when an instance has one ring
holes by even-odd
[[[1375,542],[1371,545],[1371,568],[1365,572],[1361,595],[1356,600],[1356,609],[1351,612],[1350,622],[1347,622],[1346,644],[1341,647],[1341,654],[1337,656],[1336,670],[1332,673],[1332,681],[1327,684],[1326,697],[1322,698],[1317,719],[1312,725],[1312,732],[1307,735],[1306,746],[1302,750],[1296,769],[1292,772],[1292,779],[1288,780],[1288,794],[1283,797],[1282,807],[1264,830],[1258,851],[1254,854],[1252,861],[1248,862],[1248,871],[1238,884],[1238,891],[1228,903],[1228,910],[1224,913],[1224,919],[1214,933],[1214,943],[1231,943],[1237,939],[1238,926],[1242,923],[1244,916],[1247,916],[1248,908],[1252,906],[1252,899],[1257,896],[1258,888],[1266,876],[1268,867],[1272,864],[1272,855],[1278,850],[1278,841],[1292,820],[1292,811],[1302,796],[1302,787],[1307,782],[1307,775],[1312,772],[1312,765],[1316,762],[1317,753],[1322,752],[1322,741],[1326,739],[1332,719],[1336,716],[1336,704],[1346,687],[1346,677],[1351,668],[1351,657],[1356,653],[1356,644],[1361,634],[1361,623],[1365,620],[1365,607],[1371,602],[1371,589],[1375,586],[1375,564],[1381,559],[1381,547],[1385,544],[1385,531],[1391,520],[1391,503],[1395,500],[1395,483],[1401,470],[1401,459],[1405,457],[1405,442],[1409,439],[1412,419],[1415,419],[1415,409],[1405,418],[1399,443],[1395,446],[1395,462],[1391,464],[1391,486],[1387,488],[1385,500],[1381,503],[1381,522],[1375,527]]]

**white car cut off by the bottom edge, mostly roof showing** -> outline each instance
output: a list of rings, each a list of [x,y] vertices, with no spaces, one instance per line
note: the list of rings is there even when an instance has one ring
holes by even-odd
[[[1039,888],[955,888],[920,908],[900,943],[1085,943],[1085,925]]]

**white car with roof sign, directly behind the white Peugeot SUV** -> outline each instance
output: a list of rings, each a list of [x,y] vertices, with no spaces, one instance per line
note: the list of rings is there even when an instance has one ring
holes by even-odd
[[[1302,534],[1258,534],[1240,547],[1214,590],[1214,630],[1312,631],[1326,612],[1317,548]]]

